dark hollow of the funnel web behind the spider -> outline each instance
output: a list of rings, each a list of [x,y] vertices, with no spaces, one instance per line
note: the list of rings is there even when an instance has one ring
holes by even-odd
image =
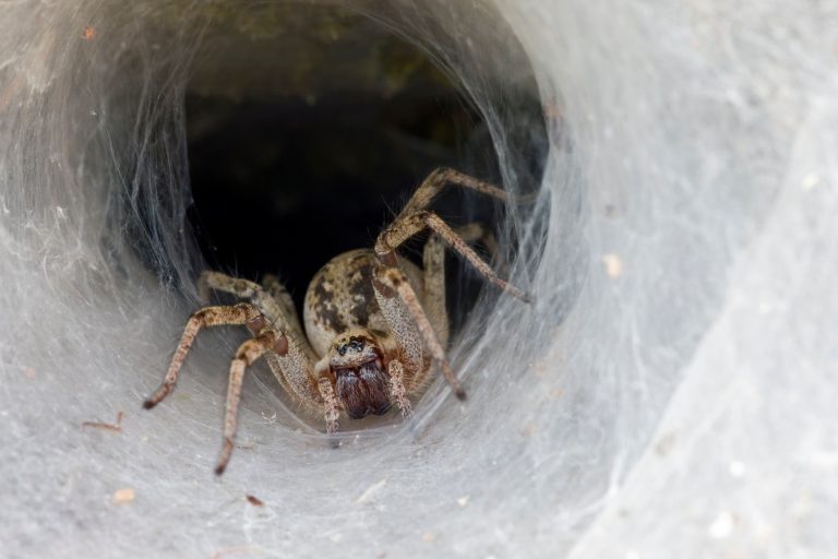
[[[204,259],[251,280],[278,275],[298,310],[314,273],[343,251],[372,247],[435,167],[500,178],[486,123],[424,53],[369,21],[354,25],[346,43],[330,44],[325,53],[320,44],[312,59],[295,52],[299,72],[285,58],[282,68],[265,67],[277,58],[275,41],[299,37],[274,38],[258,58],[235,55],[237,45],[253,50],[248,38],[225,37],[199,62],[213,71],[199,69],[185,98],[189,218]],[[225,66],[224,57],[235,63]],[[259,81],[277,73],[297,82]],[[530,109],[538,115],[540,106]],[[540,174],[540,153],[532,155]],[[450,189],[433,210],[454,226],[501,217],[494,201],[460,189]],[[405,247],[414,259],[421,241]],[[459,261],[450,263],[448,300],[468,307],[463,301],[474,301],[483,283],[464,274]],[[452,313],[455,326],[462,316]]]

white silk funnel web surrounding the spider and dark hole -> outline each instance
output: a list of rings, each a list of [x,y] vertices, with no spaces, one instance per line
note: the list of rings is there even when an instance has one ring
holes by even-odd
[[[828,2],[356,3],[453,75],[512,190],[531,67],[550,145],[505,230],[536,301],[466,323],[465,404],[436,383],[338,451],[249,381],[216,479],[238,338],[140,405],[195,302],[183,99],[232,4],[0,1],[0,555],[835,552]]]

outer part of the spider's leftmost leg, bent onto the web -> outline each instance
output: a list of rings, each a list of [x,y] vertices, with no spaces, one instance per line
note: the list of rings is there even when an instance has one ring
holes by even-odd
[[[189,348],[192,346],[192,342],[194,342],[197,332],[202,328],[248,324],[258,322],[261,319],[262,314],[259,312],[259,309],[248,302],[223,307],[204,307],[203,309],[195,311],[187,321],[187,325],[183,329],[183,335],[180,337],[180,343],[171,358],[169,369],[166,371],[166,377],[163,379],[163,384],[160,384],[160,388],[143,403],[143,407],[151,409],[156,406],[175,388],[175,384],[178,381],[178,373],[183,366],[183,360],[187,358]]]

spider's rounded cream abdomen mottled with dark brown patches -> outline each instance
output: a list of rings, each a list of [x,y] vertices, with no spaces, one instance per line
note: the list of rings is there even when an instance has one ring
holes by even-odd
[[[306,334],[319,356],[326,354],[335,336],[351,329],[388,331],[375,300],[372,272],[378,261],[370,249],[344,252],[320,269],[306,292],[302,317]],[[404,259],[398,266],[422,297],[422,275]]]

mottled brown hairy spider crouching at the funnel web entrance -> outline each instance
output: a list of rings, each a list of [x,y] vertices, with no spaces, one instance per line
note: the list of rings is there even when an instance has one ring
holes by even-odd
[[[210,289],[247,299],[229,306],[203,307],[187,321],[160,388],[145,401],[152,408],[171,392],[197,332],[206,326],[246,325],[253,337],[242,343],[230,364],[224,443],[215,473],[224,473],[236,432],[236,415],[244,369],[265,357],[282,389],[303,412],[325,419],[326,432],[351,419],[383,415],[395,403],[410,415],[409,396],[420,394],[436,364],[459,400],[466,392],[445,358],[448,318],[445,309],[445,245],[465,258],[486,280],[528,301],[522,290],[501,280],[468,242],[494,245],[492,235],[472,223],[452,229],[427,210],[447,185],[507,200],[500,188],[450,168],[439,168],[414,192],[375,246],[344,252],[324,265],[309,284],[303,306],[306,334],[287,289],[274,277],[262,284],[219,272],[201,274],[199,295]],[[430,229],[422,266],[397,255],[414,235]]]

